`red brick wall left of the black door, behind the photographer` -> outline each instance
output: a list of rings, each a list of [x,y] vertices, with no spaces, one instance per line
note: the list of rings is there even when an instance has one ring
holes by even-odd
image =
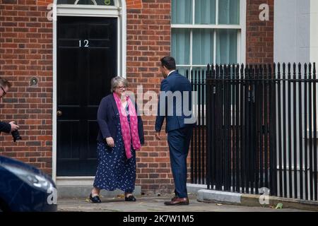
[[[0,155],[52,173],[52,23],[35,0],[0,0],[0,76],[13,83],[1,120],[17,121],[23,141],[0,136]],[[30,86],[36,77],[38,85]]]

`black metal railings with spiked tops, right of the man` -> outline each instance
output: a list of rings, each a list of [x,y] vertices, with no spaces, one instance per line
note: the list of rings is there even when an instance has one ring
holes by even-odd
[[[216,65],[187,77],[198,94],[192,183],[317,201],[315,64]]]

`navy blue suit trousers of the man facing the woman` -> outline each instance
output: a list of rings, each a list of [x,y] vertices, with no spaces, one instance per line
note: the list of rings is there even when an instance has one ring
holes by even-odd
[[[193,126],[187,126],[167,133],[175,195],[179,198],[187,198],[187,155],[192,131]]]

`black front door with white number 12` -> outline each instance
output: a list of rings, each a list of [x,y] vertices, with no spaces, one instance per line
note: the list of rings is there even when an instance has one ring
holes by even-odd
[[[117,74],[117,18],[57,19],[57,176],[93,176],[97,110]]]

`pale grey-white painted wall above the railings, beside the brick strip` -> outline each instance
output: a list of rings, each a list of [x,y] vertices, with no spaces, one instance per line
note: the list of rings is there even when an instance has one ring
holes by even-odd
[[[275,62],[310,61],[310,1],[274,1]]]

